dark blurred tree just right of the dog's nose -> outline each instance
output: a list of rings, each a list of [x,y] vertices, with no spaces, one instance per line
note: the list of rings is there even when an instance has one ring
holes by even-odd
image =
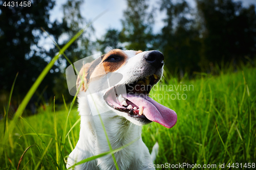
[[[158,46],[165,56],[165,68],[170,72],[179,69],[183,72],[199,69],[200,48],[199,31],[195,20],[188,19],[191,9],[183,0],[175,3],[172,0],[161,1],[161,11],[166,11],[165,26],[158,36]]]

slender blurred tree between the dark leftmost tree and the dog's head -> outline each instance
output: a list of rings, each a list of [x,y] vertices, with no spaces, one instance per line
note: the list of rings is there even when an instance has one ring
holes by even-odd
[[[62,23],[67,25],[67,31],[63,33],[63,35],[66,37],[63,44],[66,44],[76,33],[84,29],[84,27],[86,27],[86,25],[89,23],[89,21],[81,15],[80,8],[83,3],[84,0],[68,0],[62,6]],[[80,35],[80,37],[78,37],[77,40],[75,40],[65,51],[65,54],[71,63],[92,55],[94,42],[90,37],[93,33],[94,28],[89,26],[89,28],[84,30],[82,35]],[[65,68],[67,68],[70,63],[65,59],[62,60],[62,65],[65,65]],[[59,88],[59,86],[62,86],[62,88]],[[62,100],[63,94],[67,101],[72,101],[73,96],[70,95],[68,91],[65,71],[63,71],[63,74],[61,74],[61,76],[56,80],[56,86],[53,88],[53,91],[56,100]]]

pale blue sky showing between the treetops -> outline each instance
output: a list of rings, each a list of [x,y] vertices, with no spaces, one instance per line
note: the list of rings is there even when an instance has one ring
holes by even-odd
[[[239,1],[239,0],[234,0]],[[55,0],[56,4],[53,10],[50,12],[50,20],[54,21],[58,19],[59,21],[63,17],[61,5],[65,4],[64,0]],[[150,0],[150,6],[159,8],[160,0]],[[187,0],[190,7],[195,8],[196,3],[194,0]],[[243,6],[248,7],[250,4],[256,5],[256,0],[242,0]],[[93,39],[100,38],[107,29],[114,28],[121,30],[120,19],[123,16],[123,10],[126,9],[125,0],[85,0],[85,3],[81,6],[81,14],[87,19],[93,19],[95,16],[101,12],[108,10],[104,15],[98,18],[94,23],[93,27],[95,29],[95,35]],[[159,12],[157,10],[155,14],[155,25],[153,27],[153,32],[157,33],[164,26],[163,19],[165,18],[164,12]]]

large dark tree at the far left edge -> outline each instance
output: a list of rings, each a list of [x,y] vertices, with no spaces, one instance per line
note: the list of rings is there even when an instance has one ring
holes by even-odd
[[[19,72],[13,95],[14,98],[19,96],[19,99],[22,99],[42,69],[58,52],[56,47],[48,51],[38,44],[40,39],[46,38],[42,34],[41,27],[47,30],[55,41],[65,31],[65,25],[49,20],[49,11],[53,6],[54,2],[51,0],[41,1],[31,7],[8,8],[0,5],[0,89],[2,92],[10,91],[15,75]],[[42,81],[38,91],[48,86],[46,92],[52,93],[53,80],[59,75],[56,64]]]

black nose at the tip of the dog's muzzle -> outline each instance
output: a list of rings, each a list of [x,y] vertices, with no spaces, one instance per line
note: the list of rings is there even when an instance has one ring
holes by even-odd
[[[164,57],[163,54],[159,51],[148,52],[143,57],[148,63],[156,68],[160,68],[163,66]]]

